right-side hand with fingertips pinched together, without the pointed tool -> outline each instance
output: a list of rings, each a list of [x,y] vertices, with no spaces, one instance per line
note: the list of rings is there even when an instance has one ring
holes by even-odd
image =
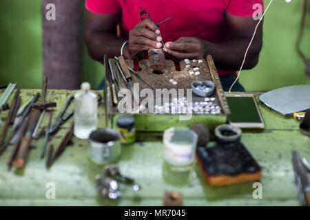
[[[204,41],[194,36],[183,36],[174,42],[167,42],[163,50],[178,60],[203,58],[206,53]]]

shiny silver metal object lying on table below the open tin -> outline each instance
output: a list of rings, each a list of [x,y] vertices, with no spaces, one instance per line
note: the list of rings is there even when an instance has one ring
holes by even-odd
[[[102,197],[116,200],[121,197],[119,184],[132,186],[134,191],[141,189],[141,186],[135,183],[134,179],[121,175],[118,165],[111,164],[105,166],[101,175],[95,177],[96,188]]]

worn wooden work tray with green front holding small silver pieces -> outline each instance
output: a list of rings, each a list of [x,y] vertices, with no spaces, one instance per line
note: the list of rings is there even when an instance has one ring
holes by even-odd
[[[155,87],[156,89],[185,89],[185,96],[187,95],[186,89],[191,89],[191,83],[193,81],[203,81],[203,80],[211,80],[216,85],[216,91],[214,94],[210,96],[210,98],[216,99],[216,104],[221,107],[221,112],[217,115],[192,115],[190,120],[179,120],[179,115],[172,114],[155,114],[155,113],[131,113],[127,115],[133,115],[136,122],[137,131],[164,131],[170,126],[192,126],[197,122],[202,122],[209,126],[209,129],[214,129],[218,124],[223,124],[229,120],[230,110],[224,95],[224,91],[222,85],[220,84],[220,79],[218,77],[218,73],[216,67],[214,65],[213,58],[211,56],[207,56],[207,60],[200,59],[203,62],[192,63],[192,67],[200,67],[200,75],[196,76],[195,74],[190,75],[189,70],[185,67],[185,61],[180,61],[180,70],[177,71],[173,61],[166,61],[166,69],[162,73],[154,72],[153,69],[149,68],[149,61],[141,61],[139,63],[139,71],[137,72],[139,76],[143,79],[147,80],[147,83]],[[105,63],[107,63],[108,58],[105,56]],[[110,58],[110,62],[112,64],[112,68],[114,69],[114,74],[116,74],[116,78],[118,78],[118,82],[121,85],[121,88],[127,88],[125,81],[119,74],[118,69],[116,67],[115,60]],[[134,64],[130,60],[126,60],[128,66],[134,67]],[[169,82],[169,79],[174,79],[178,84],[173,85]],[[140,91],[142,89],[149,88],[145,83],[136,78],[136,76],[132,76],[134,83],[139,83]],[[111,73],[108,65],[105,65],[105,95],[106,102],[105,107],[107,111],[106,120],[109,121],[108,126],[114,127],[116,123],[116,118],[119,115],[124,115],[118,112],[117,107],[112,104],[112,91],[111,91]],[[150,89],[150,88],[149,88]],[[117,91],[116,91],[117,92]],[[155,92],[154,92],[155,94]],[[140,98],[140,101],[145,98]],[[121,98],[118,98],[118,101]],[[193,102],[204,101],[205,98],[196,96],[193,93]],[[155,101],[154,101],[155,103]]]

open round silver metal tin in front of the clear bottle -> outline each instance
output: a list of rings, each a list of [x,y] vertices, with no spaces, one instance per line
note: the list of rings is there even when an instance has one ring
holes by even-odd
[[[87,153],[96,164],[107,164],[121,156],[120,135],[114,129],[97,129],[90,133]]]

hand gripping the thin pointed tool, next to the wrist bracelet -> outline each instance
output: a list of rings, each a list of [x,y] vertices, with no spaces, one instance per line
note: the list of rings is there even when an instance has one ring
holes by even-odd
[[[161,41],[161,32],[156,24],[150,19],[144,19],[130,30],[124,55],[126,58],[137,59],[140,52],[152,48],[161,48]]]

